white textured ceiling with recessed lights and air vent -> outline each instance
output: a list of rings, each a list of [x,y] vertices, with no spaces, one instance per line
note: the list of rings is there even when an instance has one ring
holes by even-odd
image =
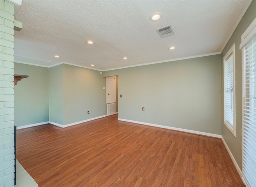
[[[15,14],[23,29],[14,32],[14,61],[46,67],[94,64],[104,71],[218,54],[250,2],[23,0]],[[162,19],[151,22],[155,12]],[[156,30],[168,25],[174,35],[161,38]]]

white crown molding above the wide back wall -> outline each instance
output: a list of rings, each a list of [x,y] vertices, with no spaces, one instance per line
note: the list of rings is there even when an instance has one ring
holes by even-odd
[[[150,62],[150,63],[144,63],[144,64],[137,64],[137,65],[130,65],[130,66],[124,66],[124,67],[118,67],[118,68],[112,68],[112,69],[105,69],[101,71],[110,71],[110,70],[116,70],[116,69],[124,69],[124,68],[129,68],[129,67],[137,67],[137,66],[144,66],[144,65],[151,65],[151,64],[159,64],[159,63],[164,63],[164,62],[172,62],[172,61],[179,61],[179,60],[186,60],[186,59],[194,59],[198,57],[206,57],[206,56],[211,56],[211,55],[219,55],[221,52],[216,52],[216,53],[208,53],[204,55],[196,55],[196,56],[190,56],[190,57],[184,57],[184,58],[178,58],[178,59],[170,59],[170,60],[164,60],[164,61],[157,61],[157,62]]]

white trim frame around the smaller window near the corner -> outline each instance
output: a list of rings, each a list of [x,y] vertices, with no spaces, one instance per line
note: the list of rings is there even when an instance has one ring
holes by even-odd
[[[233,126],[230,125],[226,120],[225,120],[225,93],[224,93],[224,124],[226,125],[226,127],[232,132],[232,134],[234,136],[236,136],[236,79],[235,79],[235,44],[232,45],[232,47],[228,50],[228,52],[226,53],[226,55],[223,57],[223,70],[224,70],[224,64],[226,59],[228,59],[228,57],[230,57],[230,55],[233,56]],[[225,73],[225,72],[224,72]],[[224,76],[223,76],[224,77]],[[224,80],[225,82],[225,80]],[[223,87],[224,90],[224,87]]]

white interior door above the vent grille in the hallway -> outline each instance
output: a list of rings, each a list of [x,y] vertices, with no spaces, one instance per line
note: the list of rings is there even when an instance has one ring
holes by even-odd
[[[107,103],[116,102],[116,76],[107,77],[106,94]]]

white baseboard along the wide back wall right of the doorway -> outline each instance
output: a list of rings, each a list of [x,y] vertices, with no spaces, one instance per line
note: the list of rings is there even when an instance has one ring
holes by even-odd
[[[182,131],[182,132],[189,132],[189,133],[193,133],[193,134],[210,136],[210,137],[214,137],[214,138],[221,138],[222,137],[219,134],[211,134],[211,133],[208,133],[208,132],[200,132],[200,131],[195,131],[195,130],[188,130],[188,129],[183,129],[183,128],[169,127],[169,126],[157,125],[157,124],[152,124],[152,123],[144,123],[144,122],[138,122],[138,121],[133,121],[133,120],[126,120],[126,119],[121,119],[121,118],[118,118],[118,120],[119,121],[124,121],[124,122],[131,122],[131,123],[137,123],[137,124],[142,124],[142,125],[166,128],[166,129],[170,129],[170,130],[178,130],[178,131]]]

